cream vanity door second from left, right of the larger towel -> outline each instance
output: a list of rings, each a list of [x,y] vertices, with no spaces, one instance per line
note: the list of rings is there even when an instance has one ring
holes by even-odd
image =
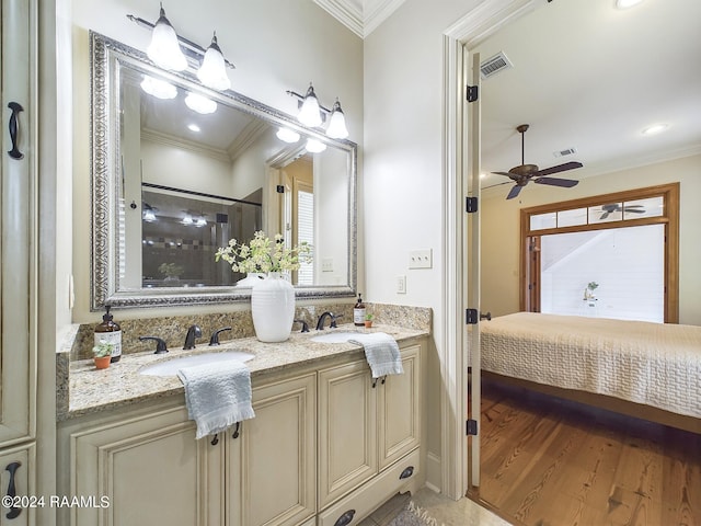
[[[226,438],[229,526],[291,526],[315,514],[315,374],[253,389],[255,418]]]

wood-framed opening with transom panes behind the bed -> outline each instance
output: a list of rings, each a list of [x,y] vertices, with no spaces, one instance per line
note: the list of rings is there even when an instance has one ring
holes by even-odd
[[[677,323],[679,184],[521,209],[520,310]]]

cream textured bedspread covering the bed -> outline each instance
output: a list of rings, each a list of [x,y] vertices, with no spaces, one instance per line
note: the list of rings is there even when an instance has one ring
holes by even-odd
[[[480,332],[485,370],[701,418],[701,327],[518,312]]]

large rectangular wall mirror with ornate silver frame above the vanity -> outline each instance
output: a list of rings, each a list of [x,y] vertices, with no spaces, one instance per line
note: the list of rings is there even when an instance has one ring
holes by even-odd
[[[298,297],[355,295],[354,142],[97,33],[90,46],[93,310],[246,300],[250,276],[215,252],[258,230],[312,247]]]

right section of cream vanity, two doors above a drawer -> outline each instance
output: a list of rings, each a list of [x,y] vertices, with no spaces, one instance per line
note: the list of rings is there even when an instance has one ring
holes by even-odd
[[[418,471],[422,345],[403,375],[374,381],[365,359],[319,371],[319,525],[356,524]]]

